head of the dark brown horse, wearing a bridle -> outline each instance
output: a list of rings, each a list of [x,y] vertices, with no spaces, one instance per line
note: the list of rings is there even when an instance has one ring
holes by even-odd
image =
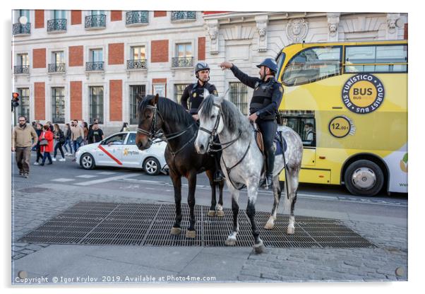
[[[148,149],[155,139],[155,134],[162,125],[162,118],[157,112],[157,104],[160,96],[147,95],[145,98],[138,97],[137,117],[138,129],[136,145],[139,150]]]

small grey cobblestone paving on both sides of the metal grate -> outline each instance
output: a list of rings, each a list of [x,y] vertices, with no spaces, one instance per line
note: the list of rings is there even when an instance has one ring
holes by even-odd
[[[147,203],[131,196],[76,192],[61,185],[15,182],[12,201],[12,240],[42,225],[78,201]],[[32,189],[37,187],[37,189]],[[28,190],[29,189],[29,190]],[[32,190],[31,190],[32,189]],[[31,192],[34,191],[35,192]],[[60,191],[60,192],[59,192]],[[249,254],[238,275],[239,281],[407,281],[407,228],[399,225],[344,220],[377,248],[277,249]],[[297,233],[297,232],[296,232]],[[12,262],[49,247],[47,244],[12,245]]]

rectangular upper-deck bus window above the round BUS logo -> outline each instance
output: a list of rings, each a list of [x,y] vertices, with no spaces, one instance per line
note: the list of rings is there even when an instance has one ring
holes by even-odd
[[[345,72],[407,72],[407,45],[346,47]]]

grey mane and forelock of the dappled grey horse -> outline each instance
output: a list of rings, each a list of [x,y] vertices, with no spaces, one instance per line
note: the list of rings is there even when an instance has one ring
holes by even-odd
[[[211,115],[214,107],[214,95],[208,95],[200,104],[200,115]],[[239,133],[241,136],[251,134],[251,125],[234,103],[223,99],[221,102],[222,117],[230,133]]]

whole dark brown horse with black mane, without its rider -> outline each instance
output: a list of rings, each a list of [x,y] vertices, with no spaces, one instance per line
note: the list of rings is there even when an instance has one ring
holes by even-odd
[[[167,140],[165,160],[169,166],[169,176],[174,186],[174,201],[176,203],[176,222],[171,234],[181,233],[181,177],[188,180],[188,205],[190,209],[190,222],[186,237],[196,237],[195,230],[195,189],[196,175],[206,172],[212,189],[211,207],[209,216],[224,216],[223,213],[223,186],[224,181],[214,182],[215,161],[211,155],[196,153],[193,142],[198,134],[198,124],[184,108],[158,95],[147,95],[138,103],[138,132],[136,144],[140,150],[150,147],[153,139],[159,137],[162,131]],[[215,188],[220,189],[220,199],[216,208]]]

